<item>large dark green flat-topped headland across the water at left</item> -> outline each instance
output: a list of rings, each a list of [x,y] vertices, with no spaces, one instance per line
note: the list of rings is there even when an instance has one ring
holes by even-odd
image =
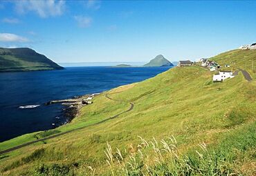
[[[30,48],[0,48],[0,72],[64,69]]]

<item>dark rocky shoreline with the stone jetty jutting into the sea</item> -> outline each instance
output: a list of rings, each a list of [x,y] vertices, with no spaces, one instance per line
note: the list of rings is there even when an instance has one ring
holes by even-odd
[[[89,95],[82,95],[82,96],[75,96],[71,99],[60,99],[60,100],[52,100],[46,102],[46,106],[50,106],[51,104],[62,104],[64,106],[63,113],[64,117],[66,118],[66,123],[70,123],[75,117],[80,115],[81,108],[83,106],[93,104],[93,98],[99,93],[89,94]],[[55,125],[55,124],[54,124]]]

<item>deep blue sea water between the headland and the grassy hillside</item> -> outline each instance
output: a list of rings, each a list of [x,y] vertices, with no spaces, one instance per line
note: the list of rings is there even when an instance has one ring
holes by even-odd
[[[53,128],[66,120],[62,106],[47,101],[102,92],[143,81],[170,68],[74,67],[65,70],[0,73],[0,141]],[[19,106],[40,105],[37,108]],[[56,119],[55,117],[62,117]]]

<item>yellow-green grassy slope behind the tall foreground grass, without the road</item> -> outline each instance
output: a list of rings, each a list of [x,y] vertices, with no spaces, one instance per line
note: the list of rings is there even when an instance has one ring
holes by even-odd
[[[214,60],[220,63],[218,58]],[[230,62],[228,57],[224,62]],[[133,101],[134,110],[103,124],[49,139],[46,144],[34,144],[3,155],[0,157],[2,175],[26,175],[42,162],[63,164],[77,172],[87,172],[88,166],[93,166],[97,173],[105,173],[107,141],[112,148],[131,150],[130,145],[139,142],[138,135],[145,139],[174,135],[183,153],[203,141],[229,154],[236,151],[232,167],[251,175],[255,169],[256,82],[247,82],[241,73],[223,83],[212,84],[211,79],[212,73],[204,68],[172,68],[138,84],[110,90],[109,96],[114,99]],[[129,104],[100,95],[94,104],[84,107],[81,117],[56,130],[93,124],[127,108]],[[33,135],[25,137],[31,139]],[[19,140],[22,143],[25,137],[3,142],[0,148],[13,146]],[[79,166],[74,166],[75,163]]]

